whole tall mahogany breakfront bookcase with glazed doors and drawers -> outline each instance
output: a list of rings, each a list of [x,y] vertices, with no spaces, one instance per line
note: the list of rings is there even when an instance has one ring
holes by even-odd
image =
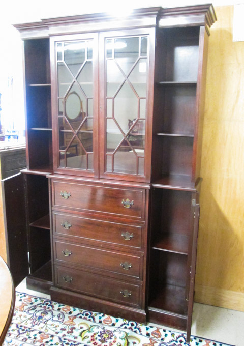
[[[24,42],[28,287],[187,330],[189,340],[215,20],[208,4],[15,25]]]

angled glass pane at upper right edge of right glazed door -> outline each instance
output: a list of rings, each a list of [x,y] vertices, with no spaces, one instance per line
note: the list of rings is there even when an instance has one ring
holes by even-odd
[[[146,97],[147,59],[140,59],[129,76],[137,94]]]

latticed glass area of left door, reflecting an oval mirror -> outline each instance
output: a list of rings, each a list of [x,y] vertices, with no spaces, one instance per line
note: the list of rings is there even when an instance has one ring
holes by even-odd
[[[63,168],[93,170],[92,45],[89,40],[56,46],[59,166]]]

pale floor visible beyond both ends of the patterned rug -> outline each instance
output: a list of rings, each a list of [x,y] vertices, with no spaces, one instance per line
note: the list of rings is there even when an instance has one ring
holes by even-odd
[[[50,299],[48,295],[26,289],[25,280],[16,290]],[[194,303],[192,335],[234,346],[244,346],[244,312]]]

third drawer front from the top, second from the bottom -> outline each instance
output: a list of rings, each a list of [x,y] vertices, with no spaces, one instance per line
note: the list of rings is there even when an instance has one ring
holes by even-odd
[[[143,256],[54,240],[55,261],[142,279]]]

